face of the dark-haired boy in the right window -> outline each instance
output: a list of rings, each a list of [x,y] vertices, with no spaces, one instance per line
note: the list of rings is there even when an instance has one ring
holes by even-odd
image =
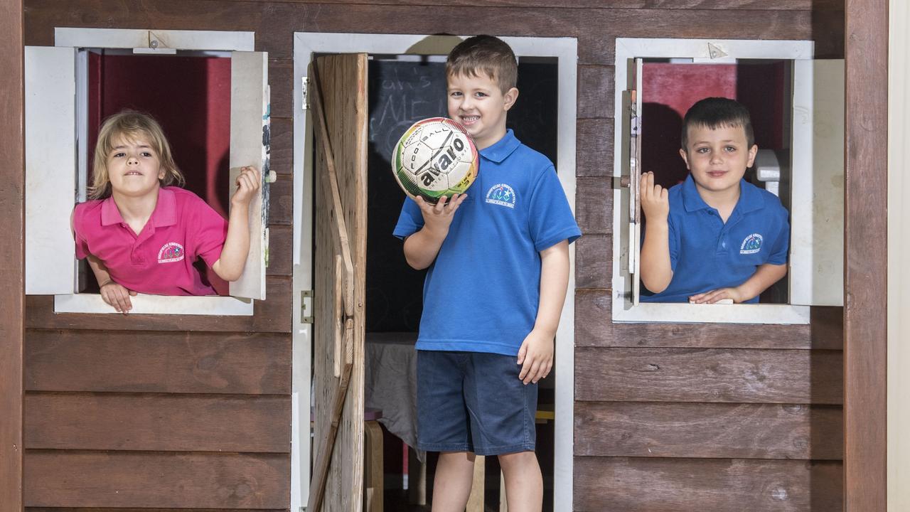
[[[741,126],[688,128],[688,148],[680,149],[686,167],[692,172],[695,187],[706,196],[724,198],[739,194],[745,169],[752,167],[758,146],[750,148]]]

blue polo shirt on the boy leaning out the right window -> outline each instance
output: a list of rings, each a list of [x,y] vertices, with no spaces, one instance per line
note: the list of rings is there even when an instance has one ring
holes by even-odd
[[[771,192],[740,180],[740,199],[725,223],[692,175],[670,189],[669,200],[673,279],[660,293],[642,287],[642,302],[689,302],[690,295],[743,284],[759,265],[787,262],[788,213]]]

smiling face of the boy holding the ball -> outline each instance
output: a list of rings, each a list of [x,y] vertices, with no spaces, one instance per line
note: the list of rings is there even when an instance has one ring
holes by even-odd
[[[506,134],[506,113],[515,104],[518,89],[511,87],[503,94],[497,81],[484,73],[450,75],[447,83],[449,117],[468,130],[478,149],[498,142]]]

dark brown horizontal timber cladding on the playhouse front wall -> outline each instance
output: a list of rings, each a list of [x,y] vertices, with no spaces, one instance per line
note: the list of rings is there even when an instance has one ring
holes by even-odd
[[[288,509],[301,31],[578,38],[575,510],[842,507],[841,310],[759,329],[612,323],[610,175],[616,37],[809,39],[843,57],[843,1],[25,1],[25,44],[52,46],[55,26],[255,31],[278,182],[253,317],[55,314],[28,298],[26,507]]]

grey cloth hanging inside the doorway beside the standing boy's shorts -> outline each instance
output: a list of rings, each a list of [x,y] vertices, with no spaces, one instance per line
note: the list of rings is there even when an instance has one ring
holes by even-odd
[[[379,423],[415,448],[421,463],[426,452],[417,446],[417,333],[367,333],[364,404],[382,410]]]

